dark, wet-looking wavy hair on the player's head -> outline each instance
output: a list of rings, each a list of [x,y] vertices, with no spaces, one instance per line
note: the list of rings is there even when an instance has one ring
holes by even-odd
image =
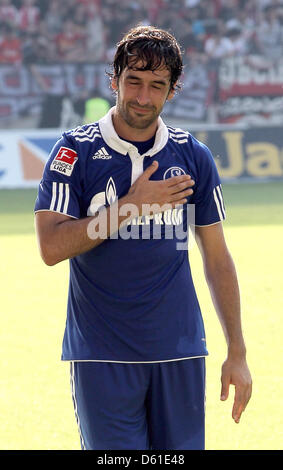
[[[138,63],[139,67],[135,67]],[[119,79],[129,65],[134,70],[151,71],[165,66],[171,73],[172,90],[179,87],[178,80],[183,71],[181,48],[169,32],[154,26],[137,26],[130,29],[117,44],[113,72],[109,75]]]

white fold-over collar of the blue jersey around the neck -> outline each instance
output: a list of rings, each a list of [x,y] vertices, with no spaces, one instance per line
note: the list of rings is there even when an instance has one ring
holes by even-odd
[[[135,153],[139,153],[138,149],[133,144],[120,139],[117,132],[115,131],[112,121],[112,115],[114,111],[115,106],[113,106],[113,108],[111,108],[108,113],[98,121],[103,140],[107,145],[109,145],[109,147],[111,147],[116,152],[122,153],[123,155],[131,153],[133,150]],[[148,152],[145,153],[145,155],[149,157],[152,157],[162,150],[168,141],[168,129],[160,116],[158,117],[157,124],[158,128],[155,135],[154,145]]]

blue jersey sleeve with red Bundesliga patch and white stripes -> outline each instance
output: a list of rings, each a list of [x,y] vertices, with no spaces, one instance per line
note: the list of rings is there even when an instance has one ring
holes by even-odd
[[[81,186],[78,153],[63,135],[46,162],[35,201],[35,212],[52,211],[80,218]]]

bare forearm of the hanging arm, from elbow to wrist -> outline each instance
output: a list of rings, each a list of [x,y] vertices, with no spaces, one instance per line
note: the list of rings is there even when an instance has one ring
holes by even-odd
[[[230,354],[245,355],[241,326],[240,292],[234,262],[227,252],[213,265],[205,266],[206,280]]]

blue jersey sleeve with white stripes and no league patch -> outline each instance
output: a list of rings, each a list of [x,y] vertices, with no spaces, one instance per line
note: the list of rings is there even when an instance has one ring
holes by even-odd
[[[212,225],[225,220],[225,205],[220,177],[211,151],[197,141],[195,157],[198,169],[195,194],[195,225]]]

